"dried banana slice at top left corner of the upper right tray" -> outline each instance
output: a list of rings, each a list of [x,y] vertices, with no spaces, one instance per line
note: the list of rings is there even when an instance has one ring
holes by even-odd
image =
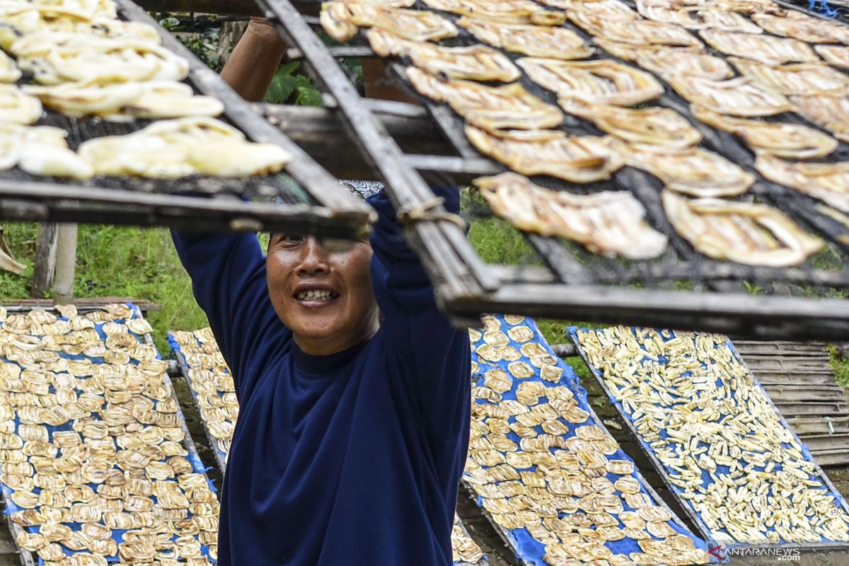
[[[319,20],[324,31],[340,42],[357,35],[360,27],[379,27],[417,42],[436,41],[458,34],[449,20],[431,12],[368,3],[325,2]]]

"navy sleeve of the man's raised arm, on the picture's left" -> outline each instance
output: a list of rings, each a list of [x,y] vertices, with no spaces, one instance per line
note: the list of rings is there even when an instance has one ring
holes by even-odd
[[[259,240],[251,233],[172,231],[171,237],[244,402],[267,352],[279,351],[275,345],[290,336],[268,296]]]

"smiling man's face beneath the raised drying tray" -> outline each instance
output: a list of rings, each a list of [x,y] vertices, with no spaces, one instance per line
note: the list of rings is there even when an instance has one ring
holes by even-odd
[[[327,356],[379,327],[371,285],[372,249],[356,242],[334,251],[312,236],[272,234],[266,259],[274,311],[307,354]]]

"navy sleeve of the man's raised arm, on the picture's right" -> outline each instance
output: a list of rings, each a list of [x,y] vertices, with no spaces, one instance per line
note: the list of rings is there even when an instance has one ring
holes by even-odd
[[[459,212],[457,188],[434,188]],[[378,212],[372,236],[372,284],[383,316],[386,355],[403,367],[419,419],[436,442],[450,440],[469,411],[469,333],[437,308],[434,289],[384,193],[368,199]]]

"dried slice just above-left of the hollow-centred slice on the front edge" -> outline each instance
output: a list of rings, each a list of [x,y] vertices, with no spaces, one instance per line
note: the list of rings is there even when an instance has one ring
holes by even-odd
[[[664,148],[643,143],[620,143],[627,165],[648,171],[676,193],[695,197],[733,197],[745,193],[755,176],[706,149]]]

